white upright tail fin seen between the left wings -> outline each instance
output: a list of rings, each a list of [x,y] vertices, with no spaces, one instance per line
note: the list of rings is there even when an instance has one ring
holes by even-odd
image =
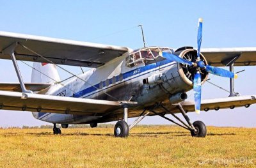
[[[51,77],[51,79],[49,77]],[[56,65],[47,63],[33,63],[33,70],[31,74],[32,83],[53,83],[56,81],[60,81],[60,76],[56,69]]]

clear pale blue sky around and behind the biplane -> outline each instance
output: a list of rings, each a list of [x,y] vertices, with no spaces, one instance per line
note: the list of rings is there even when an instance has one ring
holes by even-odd
[[[255,1],[2,1],[0,31],[64,38],[85,42],[143,47],[139,24],[148,46],[196,47],[198,18],[204,19],[202,47],[256,47]],[[106,34],[111,34],[106,36]],[[31,63],[30,63],[31,64]],[[31,68],[19,63],[23,78],[30,81]],[[77,67],[65,66],[81,73]],[[236,91],[255,95],[256,67],[236,67]],[[0,82],[17,82],[10,60],[0,60]],[[69,77],[61,72],[61,79]],[[228,79],[211,82],[228,89]],[[189,93],[190,94],[190,93]],[[203,86],[203,98],[228,96],[211,84]],[[193,97],[191,95],[189,98]],[[256,106],[190,113],[192,121],[206,125],[256,126]],[[130,120],[131,121],[131,120]],[[141,123],[168,124],[158,117]],[[30,112],[0,111],[0,126],[44,125]]]

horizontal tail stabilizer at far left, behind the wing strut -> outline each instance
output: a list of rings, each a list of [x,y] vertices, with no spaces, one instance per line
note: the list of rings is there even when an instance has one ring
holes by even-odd
[[[51,84],[37,84],[37,83],[25,83],[26,89],[31,91],[40,91],[48,88]],[[19,91],[22,92],[19,83],[0,83],[1,91]]]

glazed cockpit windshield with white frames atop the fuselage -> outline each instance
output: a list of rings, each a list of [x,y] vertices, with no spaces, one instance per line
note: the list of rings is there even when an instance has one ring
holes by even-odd
[[[145,47],[139,50],[134,50],[127,58],[126,65],[129,67],[156,63],[164,59],[163,52],[173,53],[173,49],[168,47]]]

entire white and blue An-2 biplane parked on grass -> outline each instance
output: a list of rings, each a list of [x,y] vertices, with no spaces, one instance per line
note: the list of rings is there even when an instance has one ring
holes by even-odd
[[[129,130],[145,116],[159,115],[189,130],[193,137],[205,137],[202,121],[191,123],[187,112],[249,107],[256,95],[234,92],[234,65],[256,65],[256,48],[200,49],[202,19],[198,22],[198,48],[127,47],[76,42],[27,34],[0,32],[0,58],[12,59],[19,83],[0,84],[0,109],[31,111],[36,119],[53,123],[61,134],[69,124],[118,121],[115,137],[127,137]],[[31,83],[24,83],[17,60],[33,61]],[[90,67],[75,75],[60,65]],[[60,81],[59,66],[72,74]],[[230,66],[230,71],[216,66]],[[201,101],[201,85],[208,73],[230,78],[230,96]],[[195,101],[186,92],[194,90]],[[184,116],[183,121],[175,113]],[[179,122],[167,118],[172,116]],[[138,117],[131,125],[128,118]]]

